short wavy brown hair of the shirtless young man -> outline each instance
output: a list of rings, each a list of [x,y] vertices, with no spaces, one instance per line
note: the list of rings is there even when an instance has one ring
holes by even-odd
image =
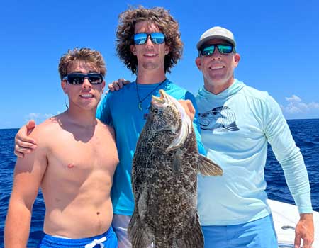
[[[90,48],[74,48],[73,50],[68,50],[67,53],[62,55],[59,62],[59,74],[60,79],[67,76],[67,68],[70,64],[74,62],[83,61],[94,64],[96,69],[99,69],[99,73],[103,76],[106,74],[106,64],[104,62],[101,52],[92,50]]]

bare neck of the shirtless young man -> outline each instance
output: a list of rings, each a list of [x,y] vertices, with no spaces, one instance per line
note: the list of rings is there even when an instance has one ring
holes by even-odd
[[[84,128],[94,128],[96,125],[96,108],[84,110],[77,106],[69,106],[65,115],[70,123],[75,123]]]

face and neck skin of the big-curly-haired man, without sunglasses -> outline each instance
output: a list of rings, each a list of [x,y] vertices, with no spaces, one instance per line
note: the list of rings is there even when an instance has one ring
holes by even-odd
[[[161,30],[148,21],[135,24],[135,33],[159,33]],[[138,58],[138,84],[156,84],[165,79],[164,57],[169,53],[165,44],[154,44],[147,38],[142,45],[131,45],[130,50]]]

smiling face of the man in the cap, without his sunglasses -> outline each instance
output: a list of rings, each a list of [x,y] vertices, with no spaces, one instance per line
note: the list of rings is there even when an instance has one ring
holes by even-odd
[[[205,45],[227,43],[222,39],[208,40]],[[234,81],[234,69],[237,67],[240,55],[237,53],[220,54],[217,47],[213,55],[196,58],[196,65],[203,73],[205,89],[213,94],[219,94]]]

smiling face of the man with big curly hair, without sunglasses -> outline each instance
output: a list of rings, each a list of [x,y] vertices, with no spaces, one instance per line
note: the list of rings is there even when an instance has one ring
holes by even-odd
[[[154,23],[139,21],[135,24],[135,33],[160,33],[161,30]],[[153,71],[162,74],[164,72],[164,57],[169,53],[169,47],[165,44],[154,44],[150,37],[145,44],[131,45],[130,50],[138,59],[138,73]]]

